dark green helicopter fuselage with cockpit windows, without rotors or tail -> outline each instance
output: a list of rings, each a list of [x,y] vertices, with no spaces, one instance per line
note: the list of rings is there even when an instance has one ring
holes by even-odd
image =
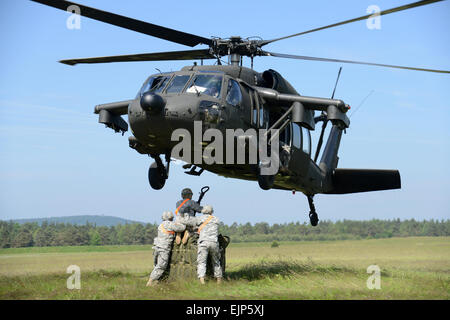
[[[216,86],[216,87],[214,87]],[[189,66],[181,71],[151,75],[136,99],[128,107],[128,120],[134,135],[130,146],[150,155],[170,154],[178,143],[172,134],[177,129],[187,130],[192,137],[203,137],[208,129],[218,129],[226,137],[226,130],[268,129],[286,111],[290,103],[270,104],[254,89],[263,86],[277,88],[284,93],[297,94],[295,89],[273,70],[258,73],[240,66]],[[213,90],[211,90],[213,89]],[[158,112],[144,110],[142,96],[148,92],[159,95],[164,108]],[[148,108],[147,108],[148,109]],[[195,121],[201,121],[202,130],[196,132]],[[232,137],[236,139],[235,136]],[[311,160],[309,130],[290,124],[280,134],[285,158],[275,178],[274,188],[320,192],[322,173]],[[193,139],[195,144],[208,143]],[[226,138],[223,140],[226,152]],[[229,143],[229,141],[228,141]],[[172,155],[173,156],[173,155]],[[194,155],[192,154],[192,158]],[[226,158],[226,154],[223,155]],[[205,170],[239,179],[257,180],[257,166],[225,163],[197,164]]]

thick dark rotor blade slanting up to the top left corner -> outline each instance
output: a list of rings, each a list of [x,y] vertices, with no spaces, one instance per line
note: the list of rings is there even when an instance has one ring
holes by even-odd
[[[67,11],[67,9],[74,5],[80,9],[80,15],[83,17],[91,18],[94,20],[109,23],[118,27],[133,30],[136,32],[144,33],[149,36],[157,37],[160,39],[184,44],[186,46],[195,47],[196,45],[203,43],[211,45],[212,41],[207,38],[196,36],[194,34],[165,28],[156,24],[128,18],[108,11],[103,11],[88,6],[84,6],[75,2],[65,0],[31,0],[47,6]]]

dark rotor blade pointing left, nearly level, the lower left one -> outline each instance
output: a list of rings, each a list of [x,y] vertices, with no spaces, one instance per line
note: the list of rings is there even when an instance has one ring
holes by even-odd
[[[209,49],[169,51],[155,53],[127,54],[120,56],[93,57],[81,59],[68,59],[59,62],[73,66],[78,63],[107,63],[107,62],[131,62],[131,61],[162,61],[162,60],[197,60],[216,59],[209,53]]]

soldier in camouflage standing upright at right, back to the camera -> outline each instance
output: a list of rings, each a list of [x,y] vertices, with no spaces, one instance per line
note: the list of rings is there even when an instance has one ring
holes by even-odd
[[[213,208],[211,206],[204,206],[202,217],[195,218],[198,226],[197,233],[198,251],[197,251],[197,276],[202,284],[205,284],[206,264],[208,255],[211,256],[214,278],[217,282],[222,281],[222,268],[220,266],[220,250],[219,250],[219,218],[213,216]]]

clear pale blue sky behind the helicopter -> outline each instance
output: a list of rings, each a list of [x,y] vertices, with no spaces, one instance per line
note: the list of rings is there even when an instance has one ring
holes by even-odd
[[[203,37],[261,36],[309,30],[407,1],[160,1],[79,0],[83,4]],[[126,3],[126,5],[125,5]],[[161,191],[147,181],[148,157],[125,136],[98,124],[96,104],[133,98],[145,78],[192,62],[130,62],[75,67],[68,58],[186,50],[188,47],[87,18],[69,30],[69,14],[25,0],[0,4],[0,219],[114,215],[154,222],[175,209],[182,188],[211,191],[225,223],[308,221],[306,197],[263,191],[256,182],[211,173],[188,176],[171,167]],[[273,43],[268,51],[450,69],[450,3],[445,1],[366,22]],[[249,61],[244,60],[249,65]],[[308,96],[331,95],[341,64],[255,59]],[[343,65],[336,97],[356,108],[339,151],[339,167],[399,169],[402,189],[317,195],[319,218],[450,218],[450,76]],[[350,113],[351,114],[351,113]],[[318,130],[316,130],[318,131]],[[317,143],[318,132],[313,134]]]

